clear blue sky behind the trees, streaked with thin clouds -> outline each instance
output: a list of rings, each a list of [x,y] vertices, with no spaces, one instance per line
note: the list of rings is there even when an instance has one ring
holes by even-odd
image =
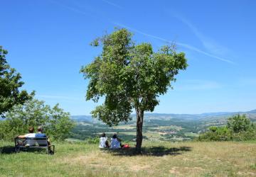
[[[88,115],[88,81],[79,73],[100,49],[89,43],[115,26],[151,42],[176,42],[189,67],[154,113],[256,108],[256,1],[0,1],[0,45],[22,74],[23,89],[70,112]]]

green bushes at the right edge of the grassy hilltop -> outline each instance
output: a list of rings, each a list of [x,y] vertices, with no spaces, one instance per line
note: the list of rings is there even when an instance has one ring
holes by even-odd
[[[223,127],[210,127],[198,137],[199,141],[246,141],[256,140],[256,125],[245,115],[234,115]]]

